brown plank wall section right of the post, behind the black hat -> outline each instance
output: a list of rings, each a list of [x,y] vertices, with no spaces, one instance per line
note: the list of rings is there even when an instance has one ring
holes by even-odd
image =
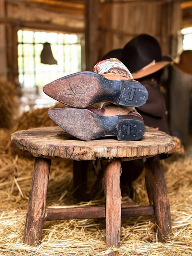
[[[164,55],[176,56],[181,40],[180,1],[166,2],[101,0],[98,60],[108,51],[122,48],[130,39],[141,33],[156,37]]]

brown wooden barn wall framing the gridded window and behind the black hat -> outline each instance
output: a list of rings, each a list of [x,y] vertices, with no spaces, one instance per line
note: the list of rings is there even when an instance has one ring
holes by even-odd
[[[86,38],[86,66],[141,33],[155,36],[163,54],[176,56],[181,28],[180,0],[1,0],[0,76],[18,79],[17,30],[77,33]],[[52,3],[52,5],[51,5]],[[7,54],[5,54],[7,53]],[[2,63],[2,62],[1,62]]]

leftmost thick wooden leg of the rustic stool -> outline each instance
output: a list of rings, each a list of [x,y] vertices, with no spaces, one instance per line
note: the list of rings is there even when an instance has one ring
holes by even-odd
[[[24,243],[31,246],[37,246],[42,236],[50,165],[51,159],[35,158],[24,229]]]

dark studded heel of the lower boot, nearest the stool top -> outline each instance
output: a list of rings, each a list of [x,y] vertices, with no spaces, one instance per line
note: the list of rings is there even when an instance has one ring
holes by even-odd
[[[136,116],[118,116],[118,135],[121,141],[139,140],[145,133],[145,125],[141,118]]]

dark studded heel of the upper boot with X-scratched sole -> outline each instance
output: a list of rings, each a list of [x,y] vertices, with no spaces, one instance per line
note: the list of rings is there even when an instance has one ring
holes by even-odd
[[[122,80],[122,93],[119,98],[119,105],[139,107],[146,103],[148,91],[137,81]]]

